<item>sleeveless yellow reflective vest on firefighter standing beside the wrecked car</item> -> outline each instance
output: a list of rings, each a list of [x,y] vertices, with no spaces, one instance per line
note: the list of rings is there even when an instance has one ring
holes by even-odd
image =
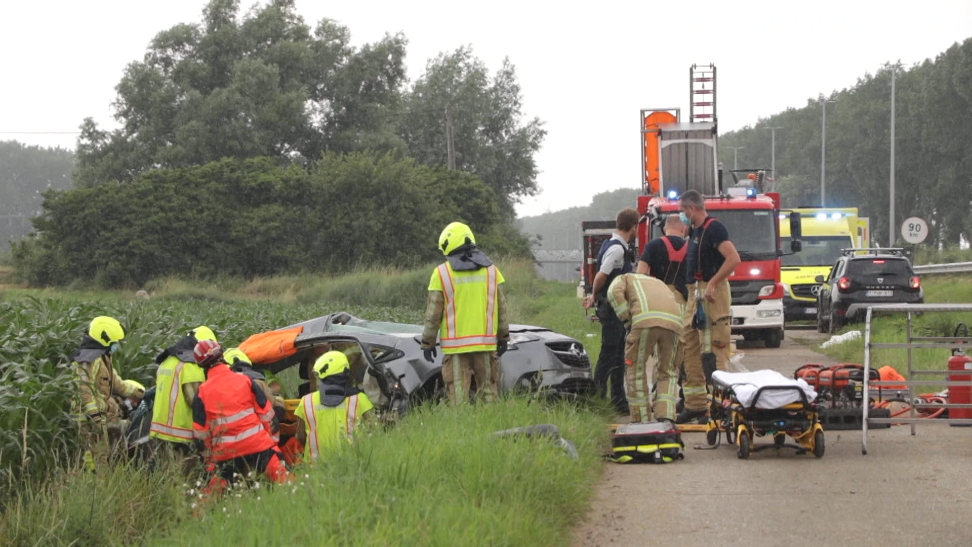
[[[500,327],[499,286],[503,274],[495,266],[456,272],[448,262],[435,269],[429,290],[445,297],[439,327],[442,353],[495,351]]]

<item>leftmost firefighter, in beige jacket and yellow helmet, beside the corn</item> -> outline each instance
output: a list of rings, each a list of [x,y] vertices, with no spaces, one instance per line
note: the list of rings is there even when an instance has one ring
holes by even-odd
[[[91,319],[81,345],[71,355],[71,368],[78,381],[74,414],[79,422],[85,466],[88,470],[104,466],[112,453],[109,428],[118,438],[120,409],[114,396],[141,399],[144,389],[125,383],[115,371],[112,355],[119,350],[124,329],[114,317],[100,315]]]

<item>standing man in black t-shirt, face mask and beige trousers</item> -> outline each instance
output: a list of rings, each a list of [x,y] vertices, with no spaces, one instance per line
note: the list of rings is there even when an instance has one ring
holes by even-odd
[[[692,226],[685,257],[688,299],[685,306],[682,345],[685,351],[685,410],[677,423],[687,423],[706,415],[706,368],[728,370],[729,339],[732,336],[732,294],[729,275],[739,266],[739,253],[729,240],[725,226],[706,213],[706,201],[694,190],[678,198],[682,222]],[[706,320],[694,328],[692,318],[702,306]],[[706,367],[703,367],[703,362]],[[712,362],[714,361],[714,362]]]

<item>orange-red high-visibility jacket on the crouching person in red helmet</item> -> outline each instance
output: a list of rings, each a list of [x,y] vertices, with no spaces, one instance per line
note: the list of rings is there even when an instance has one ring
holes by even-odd
[[[219,364],[192,402],[193,435],[209,450],[209,457],[225,461],[276,446],[272,438],[273,408],[250,378]]]

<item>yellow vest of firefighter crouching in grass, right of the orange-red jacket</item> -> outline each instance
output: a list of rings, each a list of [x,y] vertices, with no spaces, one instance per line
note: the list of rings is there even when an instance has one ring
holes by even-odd
[[[364,393],[345,397],[336,407],[321,404],[320,391],[304,395],[294,411],[294,416],[303,421],[307,433],[304,458],[317,459],[322,451],[351,441],[364,413],[373,408]]]

